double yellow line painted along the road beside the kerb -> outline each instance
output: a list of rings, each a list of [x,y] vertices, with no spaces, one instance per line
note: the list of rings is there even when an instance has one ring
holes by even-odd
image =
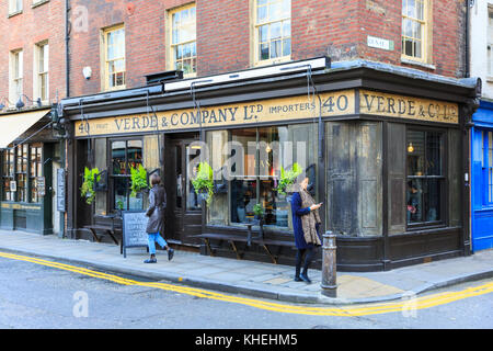
[[[76,265],[69,265],[64,263],[58,263],[54,261],[42,260],[33,257],[19,256],[13,253],[0,252],[1,258],[31,262],[36,264],[42,264],[45,267],[56,268],[59,270],[65,270],[73,273],[84,274],[96,279],[104,279],[122,285],[136,285],[136,286],[147,286],[161,288],[164,291],[187,294],[196,297],[211,298],[216,301],[242,304],[251,307],[256,307],[266,310],[289,313],[289,314],[300,314],[300,315],[312,315],[312,316],[337,316],[337,317],[356,317],[356,316],[367,316],[387,313],[412,313],[417,309],[429,308],[438,305],[448,304],[455,301],[484,295],[493,292],[493,282],[486,283],[480,286],[468,287],[458,292],[445,292],[439,294],[427,295],[423,297],[414,297],[409,299],[401,299],[393,303],[383,304],[371,304],[371,305],[351,305],[351,306],[340,306],[340,307],[309,307],[309,306],[295,306],[280,303],[271,303],[261,299],[245,298],[234,295],[226,295],[220,293],[215,293],[211,291],[206,291],[202,288],[187,287],[181,285],[173,285],[167,283],[152,283],[152,282],[138,282],[130,279],[124,279],[113,274],[106,274],[103,272],[98,272]]]

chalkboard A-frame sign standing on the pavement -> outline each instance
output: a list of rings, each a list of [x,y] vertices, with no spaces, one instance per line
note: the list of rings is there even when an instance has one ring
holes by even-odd
[[[147,217],[145,211],[122,211],[123,253],[127,258],[127,248],[148,247]]]

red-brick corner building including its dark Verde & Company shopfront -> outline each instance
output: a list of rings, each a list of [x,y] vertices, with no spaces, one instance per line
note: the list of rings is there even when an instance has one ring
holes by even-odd
[[[461,150],[478,82],[462,79],[465,3],[69,2],[69,236],[105,226],[122,235],[119,211],[146,206],[146,196],[129,195],[130,169],[142,165],[164,178],[172,244],[293,262],[289,197],[275,190],[279,167],[293,162],[270,159],[260,174],[260,156],[246,155],[253,173],[216,181],[210,207],[185,170],[197,140],[213,148],[216,172],[228,140],[265,143],[268,155],[272,143],[302,141],[305,151],[291,152],[303,154],[314,196],[326,204],[322,230],[337,234],[341,269],[468,254]],[[147,84],[151,73],[180,77],[174,70],[184,79]],[[85,167],[106,171],[90,206],[74,195]],[[265,237],[252,246],[255,203]]]

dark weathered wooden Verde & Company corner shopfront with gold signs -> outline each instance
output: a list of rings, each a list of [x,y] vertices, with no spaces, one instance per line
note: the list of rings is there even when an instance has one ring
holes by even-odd
[[[337,235],[337,269],[388,270],[469,253],[462,174],[475,82],[352,61],[188,87],[62,101],[73,137],[72,237],[88,236],[90,223],[118,220],[118,211],[146,208],[146,194],[129,190],[130,169],[142,165],[162,176],[171,244],[209,254],[196,235],[246,236],[256,204],[264,210],[264,236],[293,241],[289,193],[278,186],[282,168],[298,163],[324,202],[322,230]],[[191,182],[204,160],[214,170],[209,206]],[[91,205],[79,191],[85,167],[102,176]],[[236,257],[227,240],[214,247]],[[241,250],[242,259],[271,261],[261,248]],[[279,246],[276,254],[279,263],[294,262],[290,247]]]

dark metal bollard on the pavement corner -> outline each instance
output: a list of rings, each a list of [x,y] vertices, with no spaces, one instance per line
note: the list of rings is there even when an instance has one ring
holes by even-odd
[[[322,295],[328,297],[336,297],[337,285],[335,283],[336,278],[336,260],[335,260],[335,234],[331,230],[325,231],[323,235],[323,252],[322,252]]]

